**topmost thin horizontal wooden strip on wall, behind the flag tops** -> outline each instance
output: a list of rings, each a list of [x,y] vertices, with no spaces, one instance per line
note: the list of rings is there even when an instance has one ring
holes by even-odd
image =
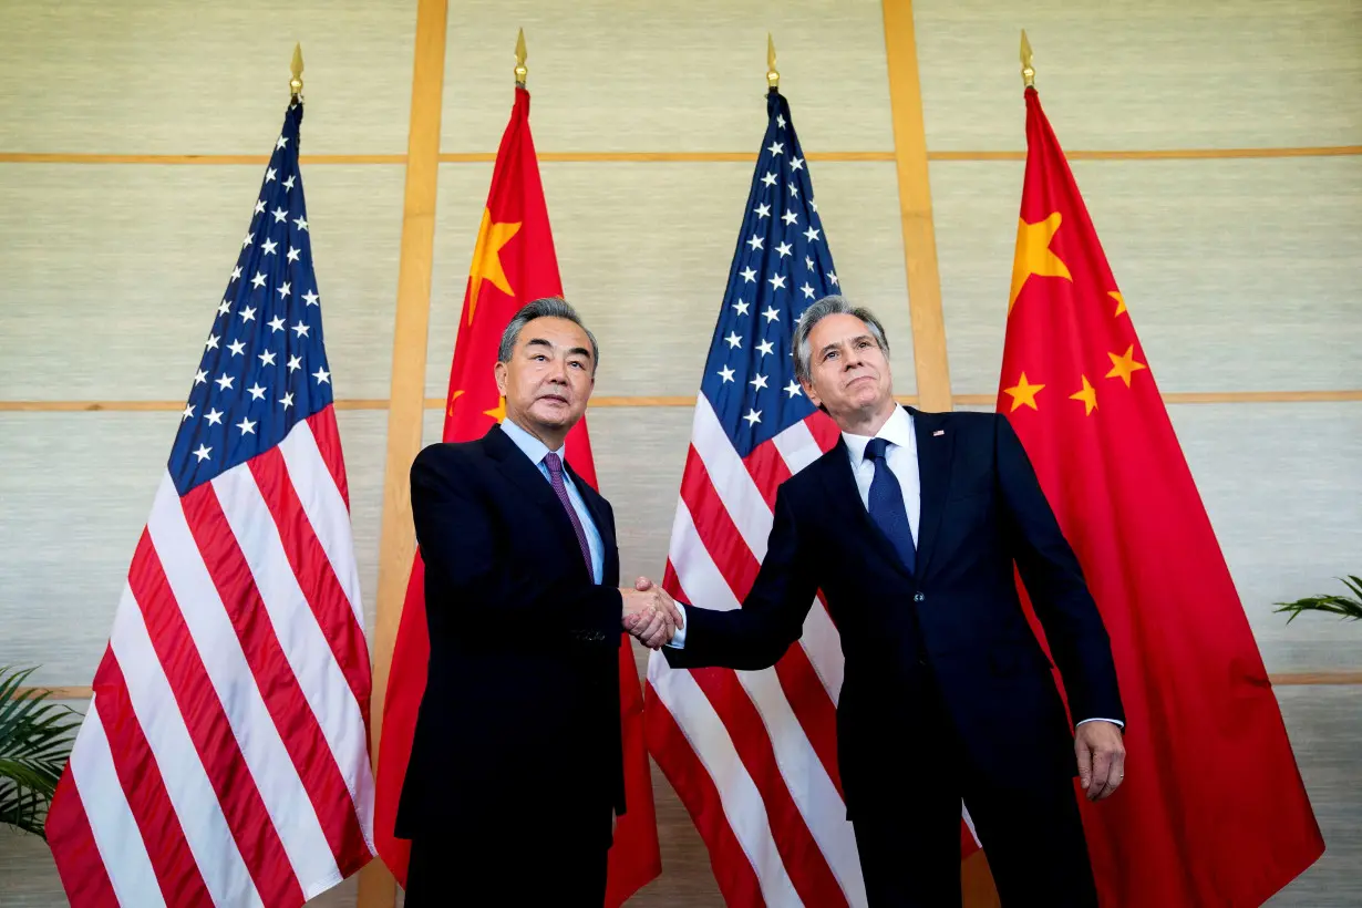
[[[1302,146],[1291,148],[1152,148],[1066,151],[1069,161],[1204,161],[1231,158],[1342,158],[1362,155],[1362,146]],[[809,161],[893,162],[892,151],[814,151]],[[0,151],[0,163],[153,163],[153,165],[264,165],[268,155],[253,154],[97,154]],[[315,154],[305,165],[406,165],[405,154]],[[492,163],[493,151],[445,152],[440,163]],[[748,151],[541,151],[541,162],[554,163],[748,163]],[[928,151],[928,161],[1026,161],[1026,151]]]

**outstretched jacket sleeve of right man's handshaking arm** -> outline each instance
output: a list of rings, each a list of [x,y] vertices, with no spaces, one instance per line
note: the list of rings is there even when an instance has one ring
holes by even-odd
[[[780,486],[767,557],[742,607],[718,611],[686,604],[685,647],[662,649],[673,668],[770,668],[804,633],[804,618],[819,591],[817,553],[801,538],[789,498]]]

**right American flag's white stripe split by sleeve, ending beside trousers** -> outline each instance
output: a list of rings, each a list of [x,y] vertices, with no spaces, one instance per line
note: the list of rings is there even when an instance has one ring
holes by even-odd
[[[699,540],[689,510],[684,509],[682,513],[686,517],[680,525],[680,538],[692,536]],[[673,535],[673,540],[677,539],[678,536]],[[738,602],[733,589],[704,546],[692,545],[686,549],[684,560],[678,561],[676,555],[671,558],[671,566],[686,595],[707,604],[715,603],[716,609],[737,609]],[[780,686],[780,678],[775,668],[734,674],[761,715],[782,780],[804,815],[813,840],[823,851],[832,875],[842,883],[853,905],[864,905],[865,882],[861,878],[855,834],[846,818],[846,805],[813,745],[809,743],[804,726],[794,715]]]

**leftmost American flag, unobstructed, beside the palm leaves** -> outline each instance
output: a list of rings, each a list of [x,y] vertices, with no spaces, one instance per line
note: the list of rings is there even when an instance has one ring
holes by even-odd
[[[369,655],[301,123],[296,101],[48,815],[75,908],[293,908],[373,854]]]

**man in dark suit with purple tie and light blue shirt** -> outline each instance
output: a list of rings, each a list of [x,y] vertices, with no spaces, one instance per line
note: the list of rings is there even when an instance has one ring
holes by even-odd
[[[411,466],[430,666],[396,821],[406,904],[599,907],[625,810],[621,626],[658,647],[676,613],[618,588],[614,515],[564,460],[595,338],[538,299],[497,359],[505,421]]]

